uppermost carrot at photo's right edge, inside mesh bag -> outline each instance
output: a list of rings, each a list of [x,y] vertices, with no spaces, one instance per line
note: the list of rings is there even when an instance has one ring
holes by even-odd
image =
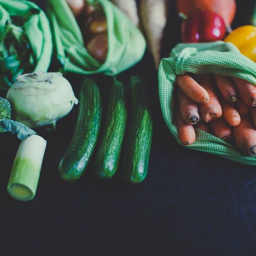
[[[232,78],[242,100],[249,106],[256,106],[256,86],[247,80],[233,77]]]

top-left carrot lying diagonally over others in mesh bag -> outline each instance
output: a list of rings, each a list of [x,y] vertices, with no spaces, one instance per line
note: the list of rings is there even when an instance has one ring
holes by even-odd
[[[176,83],[179,88],[192,100],[198,103],[207,103],[209,94],[190,75],[178,75]]]

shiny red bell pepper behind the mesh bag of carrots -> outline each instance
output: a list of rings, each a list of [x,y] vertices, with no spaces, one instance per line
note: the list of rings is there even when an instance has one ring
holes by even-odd
[[[181,26],[183,42],[210,42],[224,38],[226,27],[221,16],[210,11],[196,11],[185,17]]]

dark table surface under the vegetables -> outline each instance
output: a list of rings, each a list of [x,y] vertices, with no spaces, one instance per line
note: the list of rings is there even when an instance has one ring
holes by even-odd
[[[37,3],[44,8],[44,2]],[[244,25],[240,8],[239,13],[233,27]],[[179,25],[170,10],[163,56],[179,41]],[[255,167],[176,142],[162,118],[148,52],[121,77],[130,74],[144,80],[154,121],[145,181],[131,185],[120,172],[100,180],[91,166],[75,184],[60,179],[58,164],[73,135],[75,106],[56,131],[38,130],[48,144],[37,193],[32,201],[20,202],[6,190],[19,140],[1,135],[1,255],[255,255]],[[82,76],[68,78],[77,95]],[[110,78],[95,79],[104,95]]]

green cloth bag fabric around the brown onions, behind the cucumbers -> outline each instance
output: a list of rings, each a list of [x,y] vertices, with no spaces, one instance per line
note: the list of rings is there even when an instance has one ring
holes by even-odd
[[[84,47],[76,19],[64,0],[48,0],[47,13],[55,38],[57,59],[64,71],[114,76],[135,65],[144,55],[146,42],[139,29],[109,0],[99,3],[108,26],[108,54],[104,63],[94,59]]]

